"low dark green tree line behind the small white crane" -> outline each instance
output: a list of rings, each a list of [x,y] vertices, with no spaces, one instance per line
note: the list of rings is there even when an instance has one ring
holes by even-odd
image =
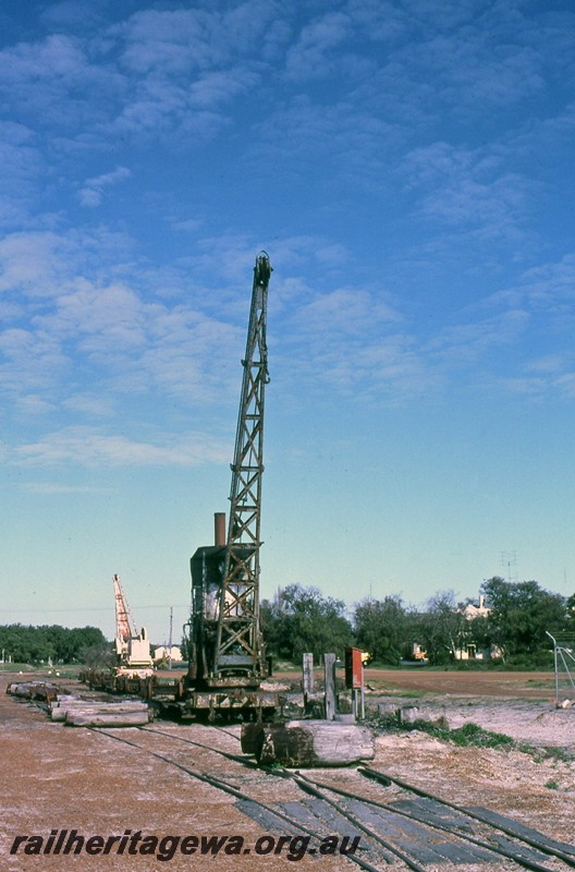
[[[86,651],[108,645],[97,627],[70,629],[58,625],[0,627],[0,652],[12,663],[83,663]]]

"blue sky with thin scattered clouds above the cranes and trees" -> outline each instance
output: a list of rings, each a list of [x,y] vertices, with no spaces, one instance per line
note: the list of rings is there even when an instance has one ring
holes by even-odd
[[[262,596],[573,592],[571,3],[9,2],[0,34],[0,622],[111,637],[118,572],[180,634],[261,249]]]

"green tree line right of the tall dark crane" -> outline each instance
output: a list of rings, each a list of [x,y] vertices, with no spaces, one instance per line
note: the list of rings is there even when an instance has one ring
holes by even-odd
[[[414,658],[414,651],[425,652],[435,665],[455,663],[462,652],[472,658],[479,653],[490,663],[545,665],[552,662],[547,632],[575,633],[575,594],[564,597],[536,581],[512,583],[497,576],[480,590],[485,610],[468,609],[472,600],[457,602],[453,591],[443,591],[424,608],[397,595],[369,597],[348,616],[343,601],[290,584],[261,603],[267,650],[292,662],[305,652],[316,659],[326,652],[341,656],[356,645],[374,662],[393,666]]]

